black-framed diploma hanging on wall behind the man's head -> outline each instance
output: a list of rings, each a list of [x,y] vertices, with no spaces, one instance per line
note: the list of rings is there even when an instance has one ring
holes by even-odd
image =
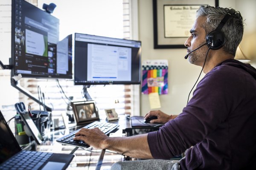
[[[218,6],[218,0],[153,0],[154,49],[186,48],[195,12],[201,5]]]

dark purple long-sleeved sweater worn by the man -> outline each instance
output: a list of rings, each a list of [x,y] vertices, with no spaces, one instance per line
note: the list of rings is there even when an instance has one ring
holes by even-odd
[[[234,59],[217,65],[177,118],[148,133],[148,144],[155,159],[189,148],[181,170],[256,169],[256,69]]]

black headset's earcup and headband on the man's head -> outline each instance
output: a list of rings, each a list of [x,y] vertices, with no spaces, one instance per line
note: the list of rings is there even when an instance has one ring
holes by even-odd
[[[225,17],[221,20],[221,23],[219,23],[218,27],[214,30],[209,32],[206,36],[206,42],[207,46],[212,50],[218,50],[225,44],[225,36],[221,32],[221,28],[225,25],[227,20],[230,18],[232,14],[236,12],[235,9],[231,8]]]

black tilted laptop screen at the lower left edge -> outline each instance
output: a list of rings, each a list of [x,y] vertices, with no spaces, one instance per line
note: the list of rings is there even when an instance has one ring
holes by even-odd
[[[0,111],[0,164],[20,151],[20,145]]]

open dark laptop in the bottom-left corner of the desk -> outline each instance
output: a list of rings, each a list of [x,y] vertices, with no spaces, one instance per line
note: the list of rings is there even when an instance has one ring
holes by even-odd
[[[0,169],[64,170],[74,155],[21,150],[0,111]]]

